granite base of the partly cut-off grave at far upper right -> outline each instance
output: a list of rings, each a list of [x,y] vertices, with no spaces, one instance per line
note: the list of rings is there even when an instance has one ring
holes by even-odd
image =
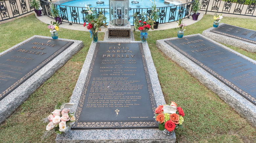
[[[224,23],[220,23],[219,26],[221,26],[223,24]],[[229,37],[226,35],[211,32],[211,30],[213,30],[213,29],[215,29],[215,27],[211,27],[211,28],[204,30],[202,35],[206,36],[212,40],[215,40],[217,42],[220,42],[220,43],[224,43],[227,45],[232,45],[234,47],[242,48],[249,52],[256,52],[256,44],[255,43],[251,43],[251,42],[247,42],[245,40],[240,40],[237,38],[233,38],[233,37]],[[250,30],[250,29],[248,29],[248,30]]]

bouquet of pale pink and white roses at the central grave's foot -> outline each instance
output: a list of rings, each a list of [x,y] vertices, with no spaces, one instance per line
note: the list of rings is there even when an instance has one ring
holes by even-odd
[[[62,105],[58,103],[55,105],[55,110],[47,118],[44,118],[45,122],[49,122],[46,126],[46,132],[42,137],[49,136],[53,131],[56,134],[62,134],[69,130],[69,127],[75,123],[74,112],[70,113],[68,108],[72,108],[74,103],[65,103]]]

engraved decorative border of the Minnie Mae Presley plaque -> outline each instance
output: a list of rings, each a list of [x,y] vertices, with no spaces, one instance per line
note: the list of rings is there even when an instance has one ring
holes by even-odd
[[[49,38],[41,38],[41,37],[34,37],[31,40],[34,40],[35,38],[39,38],[39,39],[49,39]],[[28,40],[27,42],[31,41]],[[52,40],[52,39],[49,39]],[[16,87],[18,87],[19,85],[21,85],[23,82],[25,82],[29,77],[31,77],[35,72],[37,72],[38,70],[40,70],[43,66],[45,66],[47,63],[49,63],[54,57],[56,57],[57,55],[59,55],[62,51],[64,51],[67,47],[69,47],[71,44],[73,44],[73,41],[67,41],[67,40],[59,40],[59,41],[65,41],[68,42],[66,43],[62,48],[60,48],[59,50],[57,50],[55,53],[53,53],[51,56],[49,56],[48,58],[46,58],[44,61],[42,61],[39,65],[37,65],[34,69],[32,69],[31,71],[29,71],[27,74],[25,74],[23,77],[21,77],[20,79],[18,79],[15,83],[13,83],[10,87],[8,87],[7,89],[5,89],[2,93],[0,93],[0,101],[7,96],[12,90],[14,90]],[[27,42],[24,42],[23,44],[17,46],[16,48],[26,44]],[[12,50],[4,53],[3,55],[15,50],[16,48],[13,48]],[[1,56],[3,56],[1,55]]]

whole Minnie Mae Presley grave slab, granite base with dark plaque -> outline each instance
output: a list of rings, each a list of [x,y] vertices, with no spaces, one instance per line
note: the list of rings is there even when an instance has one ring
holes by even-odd
[[[48,41],[49,41],[48,43],[53,42],[53,43],[51,43],[52,44],[51,46],[56,44],[56,45],[54,45],[54,47],[55,46],[56,47],[55,48],[51,47],[51,46],[49,47],[50,44],[48,45],[48,47],[43,46],[43,45],[38,46],[39,44],[38,45],[32,44],[34,42],[39,43],[40,42],[39,40],[45,40],[45,41],[43,41],[43,43],[47,43]],[[62,43],[62,41],[64,41],[64,42]],[[71,45],[67,46],[66,45],[67,43],[70,43]],[[30,51],[28,51],[29,49],[24,51],[24,49],[27,48],[26,44],[29,44],[28,48],[31,49]],[[57,47],[57,44],[60,44],[60,46]],[[33,48],[31,48],[31,47],[33,47]],[[40,50],[39,52],[41,52],[41,53],[36,52],[36,53],[38,53],[38,55],[36,53],[32,54],[34,51],[38,50],[38,49],[35,50],[34,48],[38,48],[38,47],[40,47],[40,49],[43,47],[45,47],[45,48],[43,48],[43,50],[39,49]],[[30,70],[32,69],[32,71],[36,71],[36,72],[31,74],[31,71],[25,71],[24,73],[26,73],[26,75],[28,75],[27,80],[22,81],[15,89],[10,91],[4,98],[2,98],[2,100],[0,101],[0,117],[1,117],[0,123],[2,123],[6,118],[8,118],[17,107],[19,107],[27,98],[29,98],[29,96],[41,84],[43,84],[48,78],[50,78],[55,71],[57,71],[60,67],[62,67],[82,47],[83,47],[82,41],[68,40],[68,39],[53,40],[51,37],[35,35],[27,40],[24,40],[23,42],[21,42],[19,44],[7,49],[6,51],[0,53],[1,58],[4,58],[6,55],[11,53],[11,51],[14,51],[14,54],[9,55],[9,57],[5,57],[5,60],[7,62],[9,62],[8,64],[1,63],[2,66],[3,66],[3,64],[5,64],[4,68],[1,68],[1,69],[6,70],[8,72],[11,72],[11,71],[20,72],[19,70],[26,69],[26,66],[21,67],[20,66],[21,64],[25,65],[27,62],[27,64],[32,65],[31,61],[35,61],[35,60],[39,59],[37,56],[47,55],[47,54],[43,54],[42,52],[49,53],[49,55],[42,58],[41,63],[35,62],[34,65],[36,65],[36,66],[30,68]],[[20,49],[23,49],[23,52],[20,52],[20,51],[22,51]],[[49,49],[49,50],[47,50],[47,49]],[[19,55],[20,53],[24,53],[29,56]],[[41,54],[43,54],[43,55],[41,55]],[[33,55],[35,55],[35,57],[33,57]],[[12,56],[12,57],[10,57],[10,56]],[[52,57],[51,60],[50,60],[50,57]],[[12,63],[12,62],[18,63],[19,66],[17,66],[17,65],[11,66],[10,63]],[[42,66],[42,63],[44,63],[44,66]],[[6,67],[6,66],[8,66],[8,67]],[[12,67],[14,67],[14,68],[12,68]],[[3,73],[3,71],[1,71],[1,74],[6,75],[6,73]],[[6,75],[6,76],[7,76],[7,78],[10,78],[10,77],[14,78],[15,75],[14,76]],[[4,76],[4,77],[6,77],[6,76]],[[22,76],[22,78],[23,78],[23,76]],[[1,79],[7,80],[6,78],[1,78]],[[4,86],[6,85],[4,80],[1,80],[0,84],[2,84]],[[11,84],[9,84],[9,85],[11,85]],[[7,87],[7,88],[9,88],[9,87]]]

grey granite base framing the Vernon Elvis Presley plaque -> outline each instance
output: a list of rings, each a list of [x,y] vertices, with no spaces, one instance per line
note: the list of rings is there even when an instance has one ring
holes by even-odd
[[[202,36],[203,38],[211,41],[212,43],[217,44],[220,47],[223,47],[224,49],[231,51],[243,58],[245,58],[248,61],[251,61],[253,63],[256,63],[256,61],[232,50],[228,47],[217,43],[201,34],[194,34],[194,35],[188,35],[184,36],[183,38],[186,39],[187,37],[191,36]],[[214,93],[216,93],[225,103],[227,103],[229,106],[231,106],[235,111],[237,111],[242,117],[248,120],[250,124],[253,126],[256,126],[256,106],[242,97],[239,93],[237,93],[235,90],[224,84],[222,81],[217,79],[215,76],[204,70],[202,67],[200,67],[198,64],[181,54],[179,51],[177,51],[175,48],[167,44],[166,40],[174,40],[178,38],[170,38],[170,39],[163,39],[163,40],[157,40],[156,45],[157,47],[170,59],[172,59],[174,62],[179,64],[182,68],[187,70],[192,76],[197,78],[203,85],[208,87],[210,90],[212,90]]]

